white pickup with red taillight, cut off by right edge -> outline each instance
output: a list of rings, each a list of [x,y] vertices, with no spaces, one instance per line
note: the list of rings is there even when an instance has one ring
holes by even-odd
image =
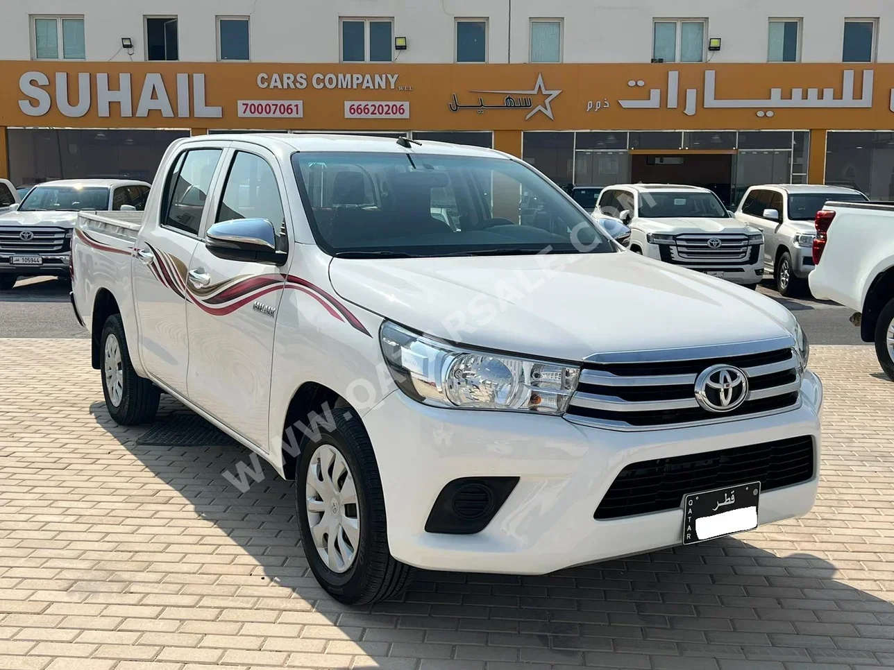
[[[814,297],[854,310],[864,342],[894,381],[894,204],[827,202],[816,213],[813,255],[807,280]]]

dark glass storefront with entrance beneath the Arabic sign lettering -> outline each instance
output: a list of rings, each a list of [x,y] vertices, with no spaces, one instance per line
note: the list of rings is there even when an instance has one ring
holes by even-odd
[[[534,131],[522,157],[562,188],[698,181],[732,207],[755,184],[805,183],[809,138],[807,130]]]

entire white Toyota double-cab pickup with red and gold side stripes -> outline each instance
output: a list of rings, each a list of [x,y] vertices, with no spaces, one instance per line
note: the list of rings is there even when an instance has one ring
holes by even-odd
[[[342,602],[409,565],[545,574],[814,504],[822,385],[789,311],[624,250],[510,155],[184,138],[134,216],[81,214],[72,251],[110,415],[164,391],[266,458]]]

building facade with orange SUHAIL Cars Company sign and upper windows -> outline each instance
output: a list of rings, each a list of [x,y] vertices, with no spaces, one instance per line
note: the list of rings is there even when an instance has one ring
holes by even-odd
[[[6,0],[0,176],[151,179],[173,138],[326,130],[492,146],[562,186],[894,199],[894,4],[780,5]]]

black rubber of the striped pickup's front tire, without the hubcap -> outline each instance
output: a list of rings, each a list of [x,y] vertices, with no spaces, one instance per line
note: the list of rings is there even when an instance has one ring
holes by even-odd
[[[301,453],[295,468],[295,507],[301,544],[316,581],[334,599],[345,605],[366,605],[392,598],[406,588],[413,568],[394,560],[388,550],[388,527],[384,494],[373,445],[355,412],[333,409],[333,430],[320,425],[320,439],[307,435],[301,440]],[[325,416],[323,417],[325,418]],[[357,490],[360,522],[359,546],[348,570],[336,573],[320,557],[308,521],[307,474],[316,448],[327,444],[338,450],[350,468]]]

